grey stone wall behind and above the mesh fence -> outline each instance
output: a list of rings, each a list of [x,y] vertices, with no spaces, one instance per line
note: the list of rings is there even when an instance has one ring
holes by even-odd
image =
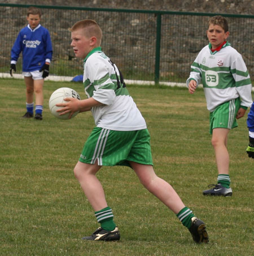
[[[20,3],[20,1],[0,1]],[[29,3],[28,3],[29,2]],[[70,3],[68,5],[68,2]],[[55,6],[85,6],[97,8],[121,8],[135,10],[164,10],[181,12],[212,12],[227,14],[249,14],[254,1],[25,1],[23,4]],[[234,7],[234,8],[233,8]],[[3,10],[0,8],[0,11]],[[17,14],[17,11],[18,14]],[[97,20],[103,31],[103,50],[120,67],[128,79],[154,79],[156,15],[126,12],[91,12],[77,10],[42,10],[42,25],[49,29],[54,47],[51,73],[63,75],[63,68],[72,75],[82,72],[82,60],[76,60],[70,44],[68,28],[77,20]],[[19,15],[20,14],[20,15]],[[5,8],[0,12],[0,36],[6,44],[0,49],[0,65],[10,63],[10,49],[17,33],[26,24],[26,8]],[[10,17],[12,17],[10,19]],[[161,23],[160,78],[165,81],[185,80],[190,64],[208,41],[205,34],[209,16],[163,15]],[[229,41],[246,61],[249,73],[253,74],[253,19],[229,18]],[[11,29],[10,29],[11,28]],[[0,39],[1,40],[1,39]],[[1,67],[0,66],[0,67]],[[74,70],[74,71],[73,71]],[[76,72],[76,73],[74,73]],[[137,75],[138,74],[138,75]],[[65,75],[69,75],[66,73]]]

